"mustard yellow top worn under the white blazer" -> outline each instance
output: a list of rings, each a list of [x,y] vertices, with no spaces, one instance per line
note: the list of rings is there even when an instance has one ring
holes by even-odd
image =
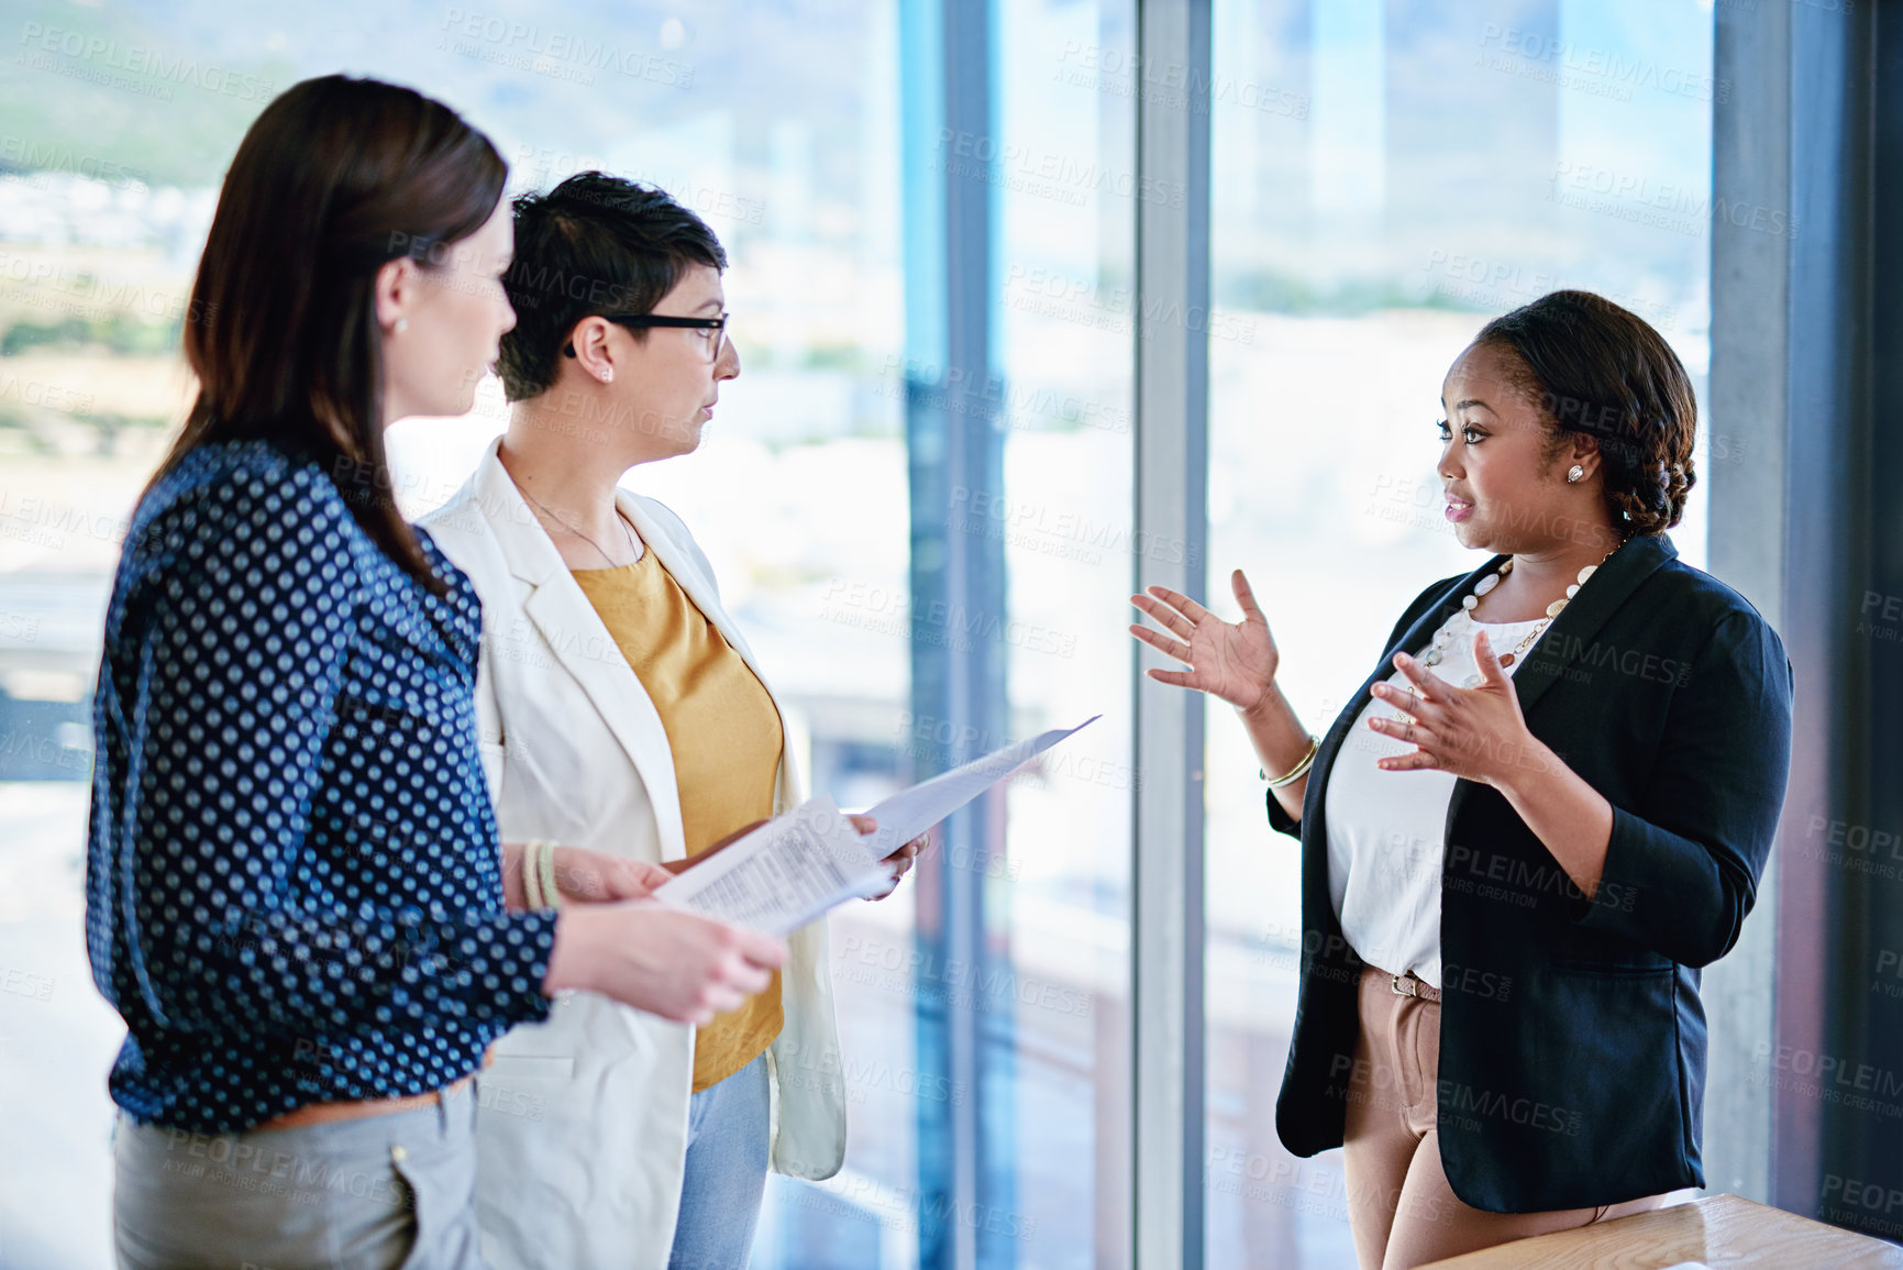
[[[719,628],[653,548],[618,569],[573,569],[634,666],[674,750],[687,855],[773,815],[780,716]],[[695,1034],[695,1093],[727,1080],[780,1034],[780,973],[759,996]]]

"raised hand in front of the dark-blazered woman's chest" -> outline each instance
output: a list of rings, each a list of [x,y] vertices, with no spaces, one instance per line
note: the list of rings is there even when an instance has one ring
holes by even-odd
[[[1420,697],[1393,684],[1376,684],[1374,695],[1414,722],[1376,716],[1368,720],[1368,727],[1418,748],[1380,760],[1382,771],[1450,771],[1467,781],[1505,786],[1515,773],[1547,765],[1549,752],[1526,731],[1513,680],[1494,657],[1484,630],[1473,638],[1473,661],[1481,668],[1481,682],[1454,687],[1418,659],[1395,653],[1395,668],[1414,684]]]

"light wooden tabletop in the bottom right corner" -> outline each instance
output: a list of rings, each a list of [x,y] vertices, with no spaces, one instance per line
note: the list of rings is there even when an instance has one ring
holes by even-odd
[[[1515,1240],[1422,1270],[1903,1270],[1903,1247],[1737,1196]]]

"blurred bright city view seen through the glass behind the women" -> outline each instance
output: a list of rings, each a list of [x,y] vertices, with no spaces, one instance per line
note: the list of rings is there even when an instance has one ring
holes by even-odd
[[[512,190],[601,168],[721,234],[742,375],[698,453],[628,484],[712,558],[814,792],[866,805],[948,762],[953,737],[910,704],[915,638],[1007,644],[1010,737],[1104,714],[1012,781],[1003,853],[936,847],[984,870],[1009,975],[921,969],[910,889],[835,916],[847,1169],[773,1179],[755,1266],[917,1266],[923,1219],[1009,1230],[986,1264],[1128,1264],[1130,718],[1155,663],[1127,596],[1182,550],[1132,533],[1132,227],[1172,196],[1130,179],[1134,118],[1182,91],[1136,57],[1134,0],[995,4],[999,135],[971,147],[904,131],[904,0],[0,11],[0,1141],[30,1144],[0,1152],[0,1266],[112,1262],[105,1076],[124,1032],[82,929],[105,602],[192,396],[179,337],[223,166],[276,91],[331,70],[451,103]],[[1231,617],[1229,569],[1248,571],[1311,729],[1401,605],[1475,564],[1441,520],[1431,428],[1486,318],[1600,291],[1661,329],[1703,396],[1711,217],[1751,215],[1711,206],[1728,91],[1711,57],[1696,0],[1216,0],[1210,541],[1191,564]],[[908,596],[908,465],[936,459],[906,444],[904,217],[908,181],[952,162],[991,173],[1005,465],[1003,487],[925,510],[1003,543],[1007,611],[932,626]],[[491,379],[472,415],[392,428],[405,510],[447,499],[504,423]],[[1701,425],[1701,470],[1741,459],[1722,419]],[[1701,508],[1673,535],[1694,564]],[[1208,1262],[1347,1266],[1336,1154],[1296,1161],[1273,1133],[1298,861],[1222,706],[1207,800]],[[948,982],[1010,1081],[986,1131],[1014,1165],[982,1211],[921,1213],[938,1165],[919,1104],[976,1097],[915,1053]]]

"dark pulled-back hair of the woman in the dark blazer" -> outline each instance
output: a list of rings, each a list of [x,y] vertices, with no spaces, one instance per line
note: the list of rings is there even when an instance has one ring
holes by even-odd
[[[1652,324],[1591,291],[1553,291],[1494,318],[1473,343],[1519,360],[1519,387],[1541,406],[1555,455],[1572,432],[1599,438],[1606,505],[1621,533],[1678,524],[1697,484],[1697,398]]]

